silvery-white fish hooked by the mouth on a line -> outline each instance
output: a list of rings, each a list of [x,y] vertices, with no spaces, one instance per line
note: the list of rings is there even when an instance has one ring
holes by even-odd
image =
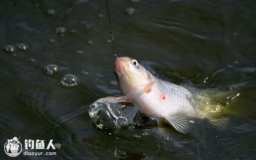
[[[136,59],[118,57],[113,72],[123,95],[101,100],[132,103],[146,117],[157,123],[166,122],[183,134],[191,131],[191,118],[206,118],[223,109],[220,102],[212,102],[205,92],[158,79]]]

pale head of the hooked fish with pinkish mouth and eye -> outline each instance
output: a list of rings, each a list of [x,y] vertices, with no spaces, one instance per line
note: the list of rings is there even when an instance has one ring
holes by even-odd
[[[152,75],[136,59],[119,57],[114,63],[114,73],[122,93],[126,95],[132,87],[147,85]]]

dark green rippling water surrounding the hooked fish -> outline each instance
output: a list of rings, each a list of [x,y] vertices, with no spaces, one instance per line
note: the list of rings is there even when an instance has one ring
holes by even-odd
[[[107,42],[105,0],[1,0],[1,48],[28,46],[0,50],[1,160],[11,159],[4,144],[13,137],[20,137],[23,151],[12,159],[256,159],[256,2],[131,1],[109,0],[117,55],[133,57],[176,84],[239,93],[226,129],[201,120],[189,134],[168,133],[169,140],[157,126],[99,131],[88,106],[122,95],[110,84],[116,79],[115,58]],[[128,8],[134,12],[128,14]],[[56,33],[58,27],[64,33]],[[49,64],[58,71],[48,75]],[[75,75],[78,85],[59,84],[66,74]],[[46,145],[52,139],[62,146],[48,150],[55,156],[25,156],[25,151],[47,152],[26,150],[25,139]]]

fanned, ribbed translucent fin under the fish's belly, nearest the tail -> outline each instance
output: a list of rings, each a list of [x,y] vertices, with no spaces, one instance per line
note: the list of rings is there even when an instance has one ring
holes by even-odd
[[[183,116],[164,116],[164,119],[168,121],[177,131],[181,133],[189,133],[192,129],[192,124],[189,123],[189,118]]]

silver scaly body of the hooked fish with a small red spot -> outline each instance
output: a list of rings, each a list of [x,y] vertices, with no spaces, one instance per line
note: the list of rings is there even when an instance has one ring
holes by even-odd
[[[139,88],[132,91],[125,96],[132,97],[140,112],[149,118],[161,120],[165,116],[195,115],[192,93],[184,87],[157,79],[149,93]]]

